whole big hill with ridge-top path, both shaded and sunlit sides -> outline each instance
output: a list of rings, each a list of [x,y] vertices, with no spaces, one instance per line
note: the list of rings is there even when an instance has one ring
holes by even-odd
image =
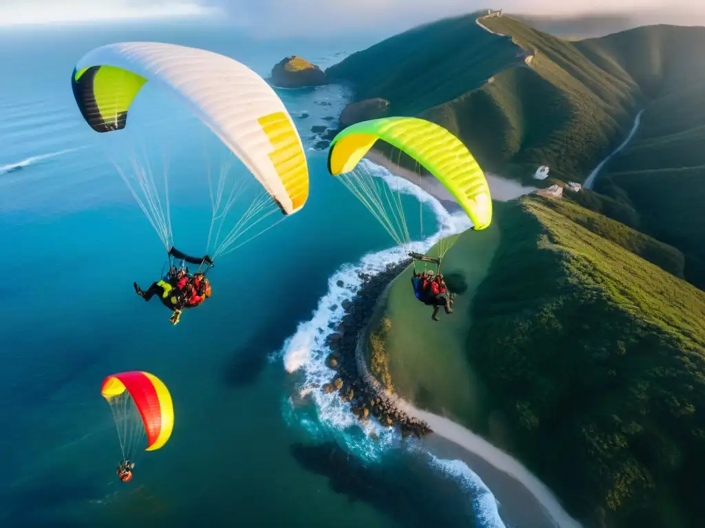
[[[582,181],[619,142],[638,88],[591,63],[570,42],[509,17],[441,20],[380,42],[326,74],[460,137],[485,170],[521,179],[538,165]],[[525,50],[538,50],[528,67]],[[492,82],[485,82],[493,77]]]

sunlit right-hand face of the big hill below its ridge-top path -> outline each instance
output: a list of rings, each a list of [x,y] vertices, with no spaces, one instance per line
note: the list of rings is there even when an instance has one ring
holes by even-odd
[[[508,17],[482,23],[535,52],[530,68],[506,70],[424,117],[459,134],[486,170],[526,180],[547,164],[552,176],[584,180],[623,137],[638,88],[598,68],[570,42]],[[496,131],[498,122],[503,130]]]

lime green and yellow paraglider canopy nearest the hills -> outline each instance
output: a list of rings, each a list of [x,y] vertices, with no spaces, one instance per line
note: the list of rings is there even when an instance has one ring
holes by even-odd
[[[419,118],[381,118],[362,121],[340,132],[331,142],[328,170],[331,175],[355,175],[344,180],[379,218],[388,215],[379,207],[385,202],[372,196],[369,181],[360,182],[356,168],[378,140],[396,147],[431,172],[470,217],[474,230],[484,230],[492,221],[492,200],[482,169],[460,139],[445,128]],[[360,185],[354,185],[357,180]],[[353,188],[354,187],[354,188]],[[370,207],[372,206],[372,207]],[[386,220],[383,220],[385,223]]]

